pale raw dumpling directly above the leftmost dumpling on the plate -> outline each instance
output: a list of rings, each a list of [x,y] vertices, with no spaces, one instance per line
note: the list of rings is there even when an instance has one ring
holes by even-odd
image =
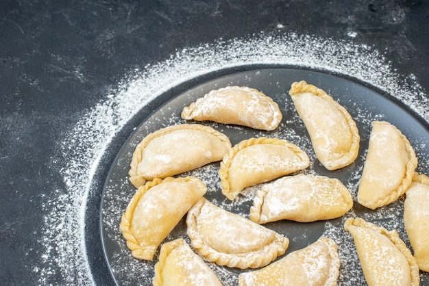
[[[135,187],[220,161],[231,148],[223,133],[204,125],[173,125],[147,135],[132,155],[128,174]]]

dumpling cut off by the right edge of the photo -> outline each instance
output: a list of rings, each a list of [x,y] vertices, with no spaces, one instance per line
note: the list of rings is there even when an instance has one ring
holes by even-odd
[[[429,272],[429,178],[420,174],[405,192],[404,225],[420,270]]]

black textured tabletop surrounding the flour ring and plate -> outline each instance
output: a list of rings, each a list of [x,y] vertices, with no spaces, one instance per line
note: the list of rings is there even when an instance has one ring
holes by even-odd
[[[421,90],[429,90],[429,1],[1,1],[0,283],[112,285],[98,211],[114,153],[104,155],[95,191],[85,198],[93,281],[78,271],[64,273],[44,257],[48,207],[42,204],[66,184],[60,164],[51,166],[58,146],[130,70],[145,70],[188,47],[252,38],[279,23],[279,33],[382,51],[397,73],[415,76]],[[357,36],[350,37],[351,28]],[[161,103],[155,100],[149,109]],[[123,131],[125,137],[130,131]]]

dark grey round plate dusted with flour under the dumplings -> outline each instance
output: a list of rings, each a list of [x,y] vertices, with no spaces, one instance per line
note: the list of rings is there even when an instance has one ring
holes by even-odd
[[[339,102],[350,112],[356,121],[361,137],[360,151],[358,158],[350,166],[341,170],[328,171],[315,158],[306,128],[302,120],[297,116],[288,93],[291,83],[301,80],[305,80],[328,92],[335,101]],[[130,198],[136,192],[127,177],[134,148],[140,140],[151,132],[169,125],[185,123],[185,120],[180,118],[183,107],[189,105],[197,98],[204,96],[210,90],[225,86],[249,86],[270,96],[278,103],[282,110],[283,119],[280,126],[275,131],[258,131],[234,125],[221,125],[215,122],[191,123],[209,125],[225,133],[233,145],[241,140],[260,136],[289,140],[306,151],[310,157],[310,166],[303,172],[325,175],[341,180],[352,193],[355,202],[358,182],[367,152],[372,121],[385,120],[391,122],[410,140],[415,148],[417,157],[419,157],[419,161],[429,161],[429,153],[426,145],[429,142],[429,132],[424,125],[406,112],[405,109],[380,93],[348,79],[308,70],[277,68],[234,73],[201,83],[191,90],[177,94],[177,96],[164,103],[156,112],[151,114],[151,116],[145,118],[136,127],[136,130],[130,135],[125,144],[123,144],[108,173],[101,197],[101,243],[110,272],[118,285],[151,285],[154,276],[154,265],[158,261],[159,253],[158,248],[153,261],[134,259],[119,230],[122,213],[125,211]],[[428,169],[428,165],[423,164],[419,164],[417,167],[419,172],[425,174],[429,174]],[[181,174],[180,176],[193,175],[199,177],[208,186],[209,190],[205,195],[208,200],[228,211],[248,217],[249,207],[253,203],[253,196],[260,185],[247,188],[242,195],[238,196],[236,201],[230,202],[230,200],[221,194],[220,181],[217,177],[218,170],[219,163],[214,163],[191,172],[186,172],[186,174]],[[403,203],[404,198],[400,198],[396,202],[375,211],[354,203],[354,208],[351,211],[342,218],[335,220],[311,223],[297,223],[284,220],[265,224],[265,226],[282,233],[290,239],[286,255],[293,250],[312,244],[321,235],[326,235],[334,239],[339,246],[339,255],[341,258],[341,274],[339,277],[341,284],[365,284],[365,278],[360,268],[353,239],[349,233],[343,230],[345,219],[350,216],[359,216],[379,226],[384,226],[389,230],[396,229],[400,233],[400,237],[410,247],[403,224]],[[183,237],[189,242],[186,236],[185,218],[177,224],[175,229],[165,239],[165,242],[177,237]],[[225,285],[237,285],[238,274],[241,271],[245,271],[220,267],[212,263],[208,264],[215,270]],[[428,274],[422,273],[421,284],[428,285],[428,281]]]

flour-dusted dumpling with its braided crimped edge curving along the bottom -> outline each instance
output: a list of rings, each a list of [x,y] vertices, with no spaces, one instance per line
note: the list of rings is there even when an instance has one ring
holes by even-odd
[[[259,268],[283,255],[289,239],[201,198],[186,218],[191,246],[230,268]]]

